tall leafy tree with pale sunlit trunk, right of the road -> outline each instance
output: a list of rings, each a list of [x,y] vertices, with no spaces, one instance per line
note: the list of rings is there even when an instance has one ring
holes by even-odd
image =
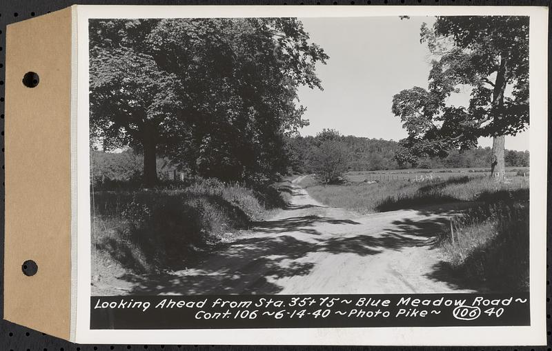
[[[502,179],[504,136],[529,126],[529,17],[437,17],[420,35],[433,56],[428,88],[393,97],[408,132],[395,158],[415,163],[493,137],[491,176]],[[471,90],[468,106],[448,105],[460,89]]]

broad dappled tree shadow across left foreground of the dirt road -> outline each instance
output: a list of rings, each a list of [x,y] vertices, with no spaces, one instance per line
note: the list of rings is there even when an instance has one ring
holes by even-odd
[[[314,263],[296,260],[312,250],[312,243],[287,235],[241,239],[193,268],[121,279],[134,285],[129,294],[275,294],[282,287],[273,280],[311,272]]]

